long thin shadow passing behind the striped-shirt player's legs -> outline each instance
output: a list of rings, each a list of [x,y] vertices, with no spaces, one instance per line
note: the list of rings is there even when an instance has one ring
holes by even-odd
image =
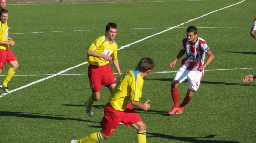
[[[172,82],[173,79],[144,79],[144,80],[157,80],[157,81],[170,81]],[[184,81],[187,82],[187,79]],[[222,85],[238,85],[238,86],[255,86],[254,84],[248,83],[228,83],[228,82],[214,82],[214,81],[201,81],[203,84],[222,84]]]

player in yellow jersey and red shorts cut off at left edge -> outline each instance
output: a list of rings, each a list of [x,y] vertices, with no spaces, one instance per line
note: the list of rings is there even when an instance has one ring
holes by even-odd
[[[19,64],[12,51],[9,49],[9,45],[13,46],[15,42],[8,37],[8,11],[6,9],[0,9],[0,13],[0,74],[2,73],[2,69],[4,68],[5,64],[9,63],[11,65],[11,67],[7,71],[7,75],[4,82],[0,84],[0,88],[2,88],[6,93],[9,93],[7,84],[11,80],[12,76],[15,74],[17,68],[19,67]]]

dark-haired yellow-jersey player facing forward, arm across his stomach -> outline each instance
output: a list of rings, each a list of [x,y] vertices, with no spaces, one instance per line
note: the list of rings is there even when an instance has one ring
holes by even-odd
[[[84,102],[86,113],[93,115],[92,104],[100,99],[100,88],[106,86],[112,93],[116,86],[116,78],[110,68],[109,61],[112,60],[118,75],[121,75],[119,61],[117,59],[117,43],[114,41],[117,32],[115,23],[108,23],[105,29],[105,35],[98,37],[92,42],[87,51],[86,60],[90,64],[88,66],[88,78],[92,95],[88,101]]]

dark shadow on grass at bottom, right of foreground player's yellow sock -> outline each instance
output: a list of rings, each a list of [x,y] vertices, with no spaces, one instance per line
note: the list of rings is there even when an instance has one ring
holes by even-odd
[[[214,138],[216,135],[208,135],[205,137],[177,137],[172,135],[165,135],[165,134],[159,134],[159,133],[148,133],[152,136],[148,137],[160,137],[160,138],[167,138],[170,140],[179,140],[179,141],[185,141],[185,142],[195,142],[195,143],[239,143],[237,141],[217,141],[217,140],[203,140],[204,138]]]

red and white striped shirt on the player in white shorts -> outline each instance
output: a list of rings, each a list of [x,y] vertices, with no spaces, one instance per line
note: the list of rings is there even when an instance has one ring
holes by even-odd
[[[199,37],[194,44],[184,38],[181,48],[186,50],[187,54],[181,61],[181,67],[187,70],[199,70],[199,67],[204,64],[205,53],[210,50],[204,39]]]

